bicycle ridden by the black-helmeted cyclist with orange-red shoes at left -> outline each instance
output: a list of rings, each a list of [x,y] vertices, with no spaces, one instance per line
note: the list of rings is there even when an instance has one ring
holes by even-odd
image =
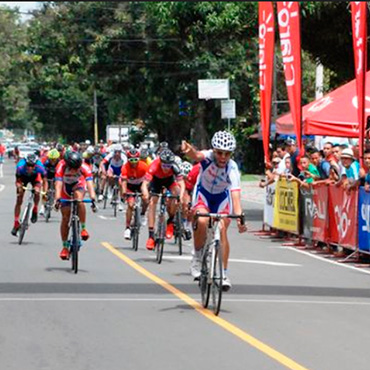
[[[70,254],[72,256],[71,259],[71,267],[72,271],[77,274],[78,272],[78,252],[80,251],[80,247],[82,245],[81,241],[81,234],[80,234],[80,218],[78,216],[78,204],[79,203],[91,203],[91,208],[93,212],[97,211],[97,208],[95,206],[95,202],[91,199],[61,199],[61,203],[69,203],[72,204],[72,210],[71,210],[71,217],[69,220],[69,248],[70,248]]]

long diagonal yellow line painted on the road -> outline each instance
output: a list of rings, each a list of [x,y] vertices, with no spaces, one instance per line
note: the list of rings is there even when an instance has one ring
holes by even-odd
[[[221,326],[226,331],[231,334],[234,334],[239,339],[243,340],[244,342],[250,344],[252,347],[258,349],[259,351],[263,352],[267,356],[273,358],[277,362],[281,363],[285,367],[291,370],[308,370],[306,367],[298,364],[294,360],[290,359],[289,357],[283,355],[282,353],[276,351],[272,347],[268,346],[267,344],[261,342],[260,340],[254,338],[250,334],[246,333],[245,331],[241,330],[234,324],[231,324],[227,320],[222,319],[219,316],[215,316],[214,313],[208,309],[202,307],[202,305],[197,302],[195,299],[191,298],[181,290],[175,288],[173,285],[169,284],[167,281],[161,279],[157,275],[152,274],[144,267],[140,266],[138,263],[134,262],[131,258],[127,257],[121,251],[118,251],[114,248],[111,244],[107,242],[102,243],[103,247],[108,249],[114,255],[116,255],[119,259],[127,263],[136,271],[140,272],[142,275],[147,277],[148,279],[152,280],[156,284],[160,285],[162,288],[166,289],[176,297],[180,298],[182,301],[187,303],[189,306],[193,307],[198,313],[205,316],[207,319],[213,321],[215,324]]]

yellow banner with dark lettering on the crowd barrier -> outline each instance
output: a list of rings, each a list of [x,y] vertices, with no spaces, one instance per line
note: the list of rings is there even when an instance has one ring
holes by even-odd
[[[278,230],[298,233],[298,184],[282,178],[275,191],[274,225]]]

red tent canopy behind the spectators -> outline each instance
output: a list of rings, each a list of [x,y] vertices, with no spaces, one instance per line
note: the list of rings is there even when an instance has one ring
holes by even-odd
[[[370,71],[366,73],[366,91],[370,92]],[[366,96],[365,117],[370,115],[370,97]],[[356,80],[333,90],[302,108],[303,135],[358,137]],[[290,113],[276,120],[279,134],[292,135]]]

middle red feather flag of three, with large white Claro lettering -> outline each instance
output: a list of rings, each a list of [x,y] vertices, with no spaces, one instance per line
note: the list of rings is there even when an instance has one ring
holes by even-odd
[[[302,143],[302,78],[301,78],[301,29],[299,3],[278,1],[278,23],[281,53],[283,57],[285,84],[288,90],[289,107],[292,114],[297,145],[304,153]]]

